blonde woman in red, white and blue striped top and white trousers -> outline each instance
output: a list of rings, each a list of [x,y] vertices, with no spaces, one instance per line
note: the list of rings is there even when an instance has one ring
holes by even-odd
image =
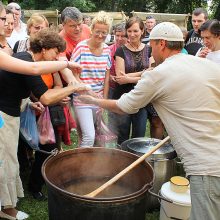
[[[79,81],[89,85],[94,95],[108,97],[111,55],[104,43],[110,29],[110,19],[103,11],[92,20],[91,38],[80,42],[72,54],[72,61],[82,65]],[[76,76],[77,77],[77,76]],[[76,117],[81,130],[80,147],[92,147],[95,141],[95,119],[97,107],[74,102]]]

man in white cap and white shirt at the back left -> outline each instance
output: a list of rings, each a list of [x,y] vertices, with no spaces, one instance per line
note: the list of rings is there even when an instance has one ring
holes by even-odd
[[[14,48],[14,45],[19,40],[24,40],[27,38],[27,25],[21,21],[21,7],[15,2],[11,2],[7,5],[13,14],[14,14],[14,30],[10,37],[7,38],[7,41],[11,48]]]

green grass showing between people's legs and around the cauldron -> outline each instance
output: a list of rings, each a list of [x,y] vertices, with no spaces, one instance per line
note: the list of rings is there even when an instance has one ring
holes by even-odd
[[[149,123],[148,123],[149,124]],[[149,137],[149,128],[147,128],[146,136]],[[78,146],[78,138],[76,131],[72,132],[71,135],[72,146],[63,146],[64,150],[74,149]],[[25,192],[25,197],[20,199],[18,202],[18,209],[29,214],[29,220],[48,220],[48,207],[47,201],[36,201],[27,191],[29,173],[25,173],[22,176],[23,187]],[[43,193],[47,194],[46,186],[43,189]],[[158,220],[159,211],[146,214],[146,220]],[[62,220],[62,219],[61,219]]]

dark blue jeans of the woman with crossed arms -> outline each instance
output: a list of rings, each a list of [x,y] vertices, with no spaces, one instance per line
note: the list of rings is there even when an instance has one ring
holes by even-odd
[[[147,111],[141,108],[136,114],[118,115],[117,134],[118,144],[131,138],[144,137],[147,125]],[[131,131],[131,135],[130,135]]]

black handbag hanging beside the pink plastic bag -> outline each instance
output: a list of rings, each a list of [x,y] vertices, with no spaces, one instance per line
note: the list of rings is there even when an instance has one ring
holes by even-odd
[[[63,125],[66,123],[63,107],[61,105],[49,106],[49,111],[53,126]]]

